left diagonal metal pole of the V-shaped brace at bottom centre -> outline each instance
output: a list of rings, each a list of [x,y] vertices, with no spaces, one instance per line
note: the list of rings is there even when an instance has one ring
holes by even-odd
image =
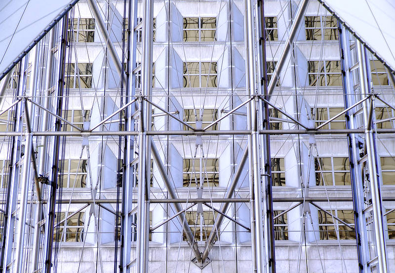
[[[155,162],[158,165],[158,169],[159,169],[160,175],[163,178],[163,183],[167,189],[167,192],[168,192],[170,198],[178,201],[179,199],[177,199],[177,194],[174,191],[173,186],[170,183],[170,178],[167,175],[167,171],[162,163],[162,160],[160,159],[159,152],[157,150],[157,147],[155,146],[154,140],[151,139],[151,142],[152,142],[151,143],[152,157],[154,158]],[[186,203],[186,202],[195,203],[195,202],[189,202],[188,200],[185,200],[184,203]],[[210,202],[210,201],[208,201],[208,202]],[[178,202],[174,203],[174,209],[175,209],[176,213],[181,212],[183,210],[181,205]],[[195,242],[195,239],[194,239],[194,234],[188,225],[188,222],[187,222],[186,217],[184,216],[184,213],[180,213],[178,215],[178,218],[180,220],[180,223],[182,223],[182,229],[185,232],[185,236],[187,237],[188,242],[192,245],[192,250],[194,251],[197,261],[201,263],[202,259],[200,258],[199,248],[197,247],[197,243]]]

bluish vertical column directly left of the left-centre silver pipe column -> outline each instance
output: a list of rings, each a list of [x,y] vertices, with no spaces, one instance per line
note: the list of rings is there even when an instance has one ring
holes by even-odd
[[[126,102],[128,103],[131,98],[135,95],[136,90],[136,75],[131,71],[134,71],[136,68],[136,44],[137,44],[137,35],[134,31],[134,28],[137,24],[137,4],[138,0],[130,0],[129,1],[129,9],[128,9],[128,30],[127,30],[127,50],[130,52],[128,54],[129,58],[127,65],[126,76],[128,76],[129,85],[126,86]],[[125,110],[125,128],[127,131],[134,131],[134,120],[132,114],[134,112],[135,104],[133,103]],[[124,155],[124,172],[123,172],[123,185],[122,185],[122,227],[121,227],[121,244],[120,244],[120,267],[119,272],[130,272],[129,263],[130,263],[130,253],[131,253],[131,234],[132,234],[132,216],[129,214],[132,209],[132,199],[133,199],[133,167],[130,166],[131,161],[133,160],[133,145],[134,145],[134,137],[133,136],[125,136],[125,147],[123,151]],[[116,249],[117,251],[117,249]]]

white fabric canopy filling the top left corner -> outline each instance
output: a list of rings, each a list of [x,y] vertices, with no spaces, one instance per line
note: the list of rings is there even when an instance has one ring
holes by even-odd
[[[72,0],[0,1],[0,78]]]

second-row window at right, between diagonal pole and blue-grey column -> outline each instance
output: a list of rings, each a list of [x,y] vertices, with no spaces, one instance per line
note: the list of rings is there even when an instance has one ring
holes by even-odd
[[[342,86],[340,61],[307,61],[310,86]]]

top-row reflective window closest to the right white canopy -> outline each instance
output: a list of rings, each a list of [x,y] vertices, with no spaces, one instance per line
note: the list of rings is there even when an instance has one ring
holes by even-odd
[[[305,16],[306,40],[338,40],[334,16]],[[323,37],[322,37],[323,35]]]

